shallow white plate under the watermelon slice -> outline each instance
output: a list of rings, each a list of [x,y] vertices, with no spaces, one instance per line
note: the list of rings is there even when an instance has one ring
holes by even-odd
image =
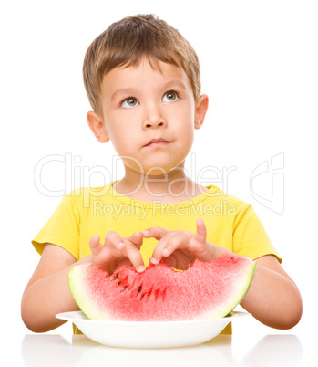
[[[247,312],[231,312],[222,319],[190,321],[99,321],[82,311],[64,312],[57,319],[75,323],[89,339],[111,347],[172,348],[200,344],[220,334],[228,323]]]

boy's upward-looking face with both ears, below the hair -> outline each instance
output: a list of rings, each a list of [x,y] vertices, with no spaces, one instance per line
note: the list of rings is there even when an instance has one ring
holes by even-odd
[[[97,139],[110,139],[126,168],[148,175],[184,165],[208,107],[207,96],[195,102],[183,68],[160,68],[143,60],[138,67],[111,70],[101,85],[103,118],[87,115]]]

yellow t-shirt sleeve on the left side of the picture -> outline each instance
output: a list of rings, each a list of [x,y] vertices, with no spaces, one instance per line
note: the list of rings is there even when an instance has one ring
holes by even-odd
[[[32,240],[36,251],[42,255],[46,243],[65,248],[78,260],[80,215],[72,195],[63,197],[46,225]]]

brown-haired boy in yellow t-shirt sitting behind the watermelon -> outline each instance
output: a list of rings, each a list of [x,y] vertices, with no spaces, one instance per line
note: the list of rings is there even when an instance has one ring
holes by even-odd
[[[251,205],[186,176],[194,129],[208,109],[190,44],[154,16],[130,16],[88,47],[83,73],[89,127],[99,142],[113,143],[125,175],[67,194],[34,239],[42,257],[22,299],[26,326],[52,330],[63,323],[56,313],[78,309],[67,284],[76,264],[142,272],[162,260],[185,269],[225,251],[258,260],[241,306],[274,328],[297,324],[300,293]],[[224,213],[213,212],[220,204]]]

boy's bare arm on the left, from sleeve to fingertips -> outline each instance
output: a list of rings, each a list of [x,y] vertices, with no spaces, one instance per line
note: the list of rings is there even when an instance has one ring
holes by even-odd
[[[101,245],[99,237],[93,236],[89,242],[92,255],[79,261],[64,248],[46,244],[22,297],[21,316],[26,327],[35,332],[53,330],[66,322],[56,319],[57,313],[78,310],[67,279],[69,270],[76,265],[91,263],[93,267],[113,271],[127,264],[143,271],[145,266],[139,252],[142,239],[141,232],[129,238],[108,232],[105,244]]]

